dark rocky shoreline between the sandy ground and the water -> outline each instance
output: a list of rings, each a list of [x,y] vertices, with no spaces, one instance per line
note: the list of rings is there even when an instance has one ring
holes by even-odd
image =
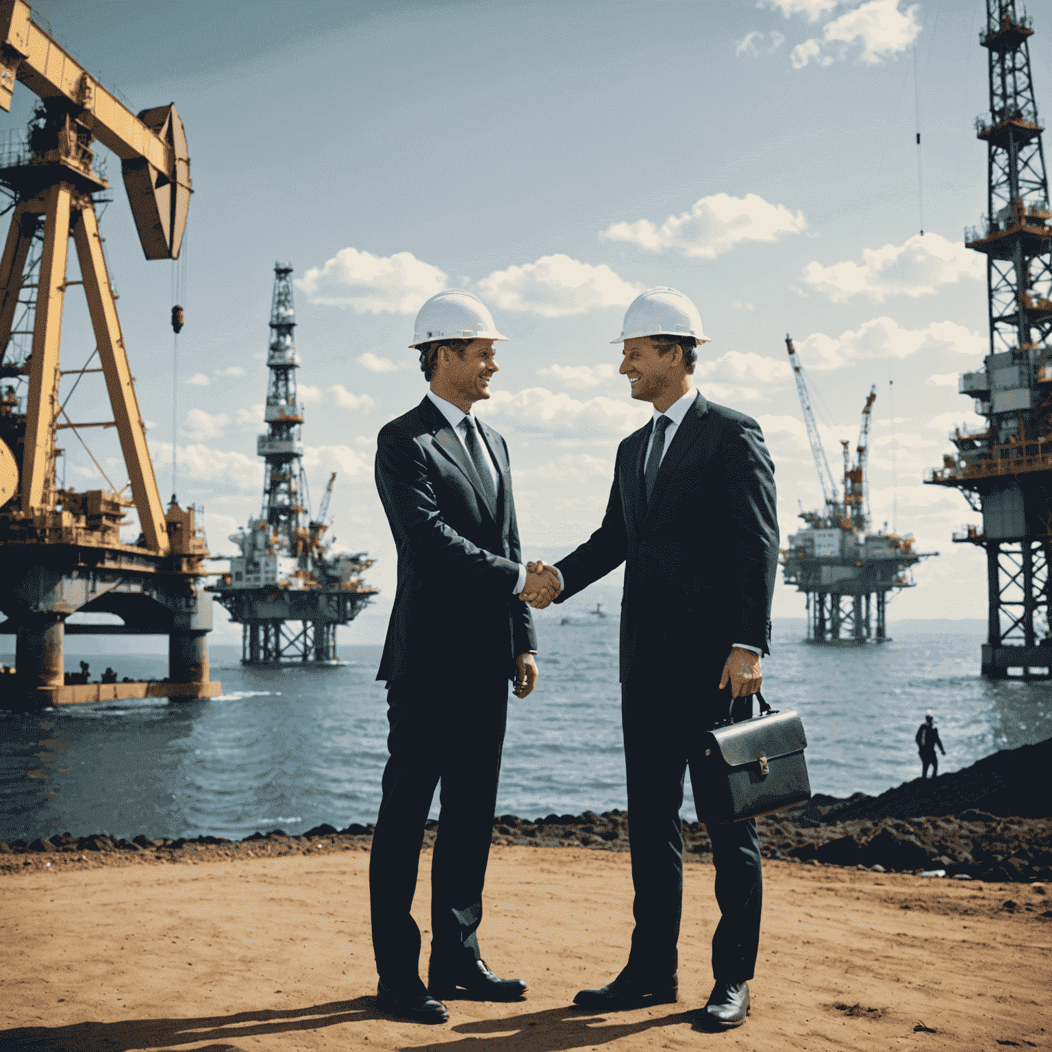
[[[847,800],[818,794],[807,804],[757,820],[765,857],[877,872],[931,873],[987,882],[1052,881],[1052,796],[1038,785],[1052,766],[1052,740],[987,756],[935,782],[905,783],[881,796]],[[1046,812],[1045,814],[1040,812]],[[99,865],[224,862],[289,854],[368,851],[373,826],[303,834],[257,832],[242,841],[218,836],[133,841],[105,834],[59,833],[32,844],[0,843],[0,873]],[[423,846],[434,844],[429,822]],[[711,862],[703,823],[684,823],[684,855]],[[493,843],[532,847],[628,850],[628,814],[548,814],[493,820]]]

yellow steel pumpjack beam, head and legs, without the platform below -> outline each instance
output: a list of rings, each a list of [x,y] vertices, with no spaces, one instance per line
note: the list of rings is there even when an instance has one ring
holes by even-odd
[[[0,347],[11,340],[23,268],[43,215],[44,243],[37,288],[29,391],[21,464],[21,510],[27,517],[55,505],[55,430],[66,258],[73,236],[100,364],[132,481],[132,497],[150,550],[168,551],[157,480],[146,448],[117,301],[92,194],[106,182],[93,169],[93,139],[121,159],[121,173],[146,259],[177,259],[189,207],[189,157],[175,106],[133,114],[31,19],[25,0],[0,3],[0,106],[11,109],[15,81],[44,103],[45,126],[7,183],[18,204],[0,260]],[[31,221],[32,220],[32,221]],[[70,423],[72,421],[66,421]]]

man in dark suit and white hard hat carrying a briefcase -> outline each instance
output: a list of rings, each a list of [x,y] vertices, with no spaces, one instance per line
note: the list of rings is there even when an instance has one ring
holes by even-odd
[[[632,398],[652,403],[653,417],[618,449],[603,524],[555,565],[562,602],[625,563],[622,721],[635,929],[621,974],[574,998],[600,1011],[676,998],[684,773],[689,766],[704,820],[695,746],[727,719],[733,697],[760,688],[778,555],[774,468],[760,425],[693,386],[694,347],[707,342],[693,303],[675,289],[651,289],[628,308],[614,342],[624,342],[620,371]],[[722,917],[705,1020],[723,1029],[749,1011],[763,879],[755,823],[712,823],[708,833]]]

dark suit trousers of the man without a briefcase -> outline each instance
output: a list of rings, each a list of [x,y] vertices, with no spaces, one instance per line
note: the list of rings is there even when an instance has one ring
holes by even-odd
[[[476,931],[489,861],[508,710],[506,673],[436,690],[388,685],[383,798],[369,858],[377,971],[419,984],[420,929],[410,913],[420,848],[436,787],[439,832],[431,858],[431,959],[478,960]]]

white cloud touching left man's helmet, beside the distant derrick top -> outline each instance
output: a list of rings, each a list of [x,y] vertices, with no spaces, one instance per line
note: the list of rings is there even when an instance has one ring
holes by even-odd
[[[311,303],[350,307],[359,313],[414,315],[446,287],[448,276],[412,252],[373,256],[341,248],[322,267],[310,267],[296,287]]]

